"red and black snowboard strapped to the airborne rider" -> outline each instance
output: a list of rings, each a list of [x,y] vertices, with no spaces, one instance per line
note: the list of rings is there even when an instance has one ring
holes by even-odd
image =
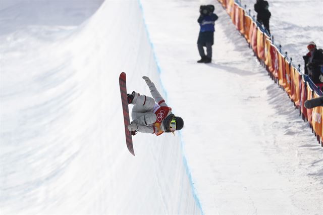
[[[130,153],[132,153],[135,156],[135,152],[133,150],[133,145],[132,145],[131,132],[128,130],[128,125],[130,125],[130,118],[129,118],[129,108],[128,108],[128,99],[127,99],[126,73],[124,72],[122,72],[119,76],[119,85],[120,85],[121,102],[122,102],[122,110],[123,110],[123,120],[125,124],[126,143]]]

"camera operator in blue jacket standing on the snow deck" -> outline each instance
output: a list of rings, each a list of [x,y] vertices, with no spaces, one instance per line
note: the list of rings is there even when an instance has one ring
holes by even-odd
[[[197,39],[197,48],[201,60],[197,63],[211,63],[212,45],[214,42],[214,22],[219,18],[214,12],[213,5],[201,5],[200,16],[197,22],[200,24],[200,32]],[[206,56],[203,46],[206,46]]]

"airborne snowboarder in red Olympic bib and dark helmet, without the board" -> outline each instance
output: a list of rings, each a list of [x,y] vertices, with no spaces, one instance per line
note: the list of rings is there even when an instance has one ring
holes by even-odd
[[[164,132],[181,130],[184,121],[172,113],[172,109],[166,104],[165,100],[159,94],[154,83],[147,76],[142,77],[150,89],[152,97],[140,95],[133,91],[128,95],[128,104],[134,104],[131,112],[133,121],[128,126],[132,135],[136,132],[150,133],[155,135]]]

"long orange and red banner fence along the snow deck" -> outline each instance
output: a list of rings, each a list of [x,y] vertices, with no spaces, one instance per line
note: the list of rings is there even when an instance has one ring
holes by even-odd
[[[323,107],[306,109],[304,102],[323,95],[322,91],[308,78],[300,73],[277,47],[261,26],[250,17],[245,9],[234,0],[218,0],[225,8],[237,30],[245,37],[255,56],[258,58],[271,78],[285,90],[304,122],[308,121],[318,142],[323,146]]]

